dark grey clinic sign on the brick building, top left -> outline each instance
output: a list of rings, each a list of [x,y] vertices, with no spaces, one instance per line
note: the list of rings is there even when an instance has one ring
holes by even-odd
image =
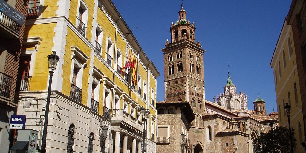
[[[11,5],[7,4],[4,0],[0,0],[0,12],[8,16],[17,24],[22,25],[24,16]]]

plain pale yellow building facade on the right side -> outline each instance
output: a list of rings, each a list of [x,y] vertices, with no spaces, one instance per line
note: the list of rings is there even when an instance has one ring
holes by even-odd
[[[294,129],[297,145],[294,152],[303,152],[301,145],[304,136],[304,123],[301,106],[301,96],[297,63],[294,50],[294,41],[291,25],[286,20],[279,35],[270,67],[274,72],[275,94],[278,110],[279,126],[288,128],[288,117],[284,106],[291,106],[290,124]]]

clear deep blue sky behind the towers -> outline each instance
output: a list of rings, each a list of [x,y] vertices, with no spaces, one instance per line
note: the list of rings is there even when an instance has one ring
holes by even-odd
[[[113,0],[121,16],[148,58],[161,73],[157,78],[157,100],[164,100],[163,54],[170,26],[178,20],[180,0]],[[233,83],[248,95],[248,108],[258,97],[266,101],[268,113],[276,106],[271,57],[288,14],[291,1],[203,1],[185,0],[186,19],[196,26],[196,42],[204,53],[205,98],[213,101],[223,92],[227,64]],[[202,69],[203,70],[203,69]],[[276,107],[275,107],[276,109]],[[276,109],[277,111],[277,109]]]

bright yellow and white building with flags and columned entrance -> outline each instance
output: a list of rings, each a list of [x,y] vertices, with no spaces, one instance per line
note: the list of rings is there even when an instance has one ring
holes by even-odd
[[[17,114],[26,129],[42,133],[47,100],[47,56],[60,57],[54,71],[47,130],[47,152],[156,153],[156,78],[147,58],[110,0],[29,2],[20,64]],[[33,11],[34,10],[34,11]],[[117,31],[117,32],[116,32]],[[131,85],[136,50],[138,83]],[[150,111],[143,124],[140,107]],[[102,128],[108,127],[106,140]],[[142,144],[145,126],[146,140]],[[41,140],[39,139],[39,146]]]

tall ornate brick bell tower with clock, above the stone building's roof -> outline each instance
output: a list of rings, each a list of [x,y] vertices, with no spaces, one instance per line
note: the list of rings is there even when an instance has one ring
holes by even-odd
[[[164,54],[165,100],[189,101],[195,114],[203,114],[205,107],[203,53],[195,42],[194,23],[186,20],[181,5],[178,20],[171,24],[171,43],[161,49]]]

